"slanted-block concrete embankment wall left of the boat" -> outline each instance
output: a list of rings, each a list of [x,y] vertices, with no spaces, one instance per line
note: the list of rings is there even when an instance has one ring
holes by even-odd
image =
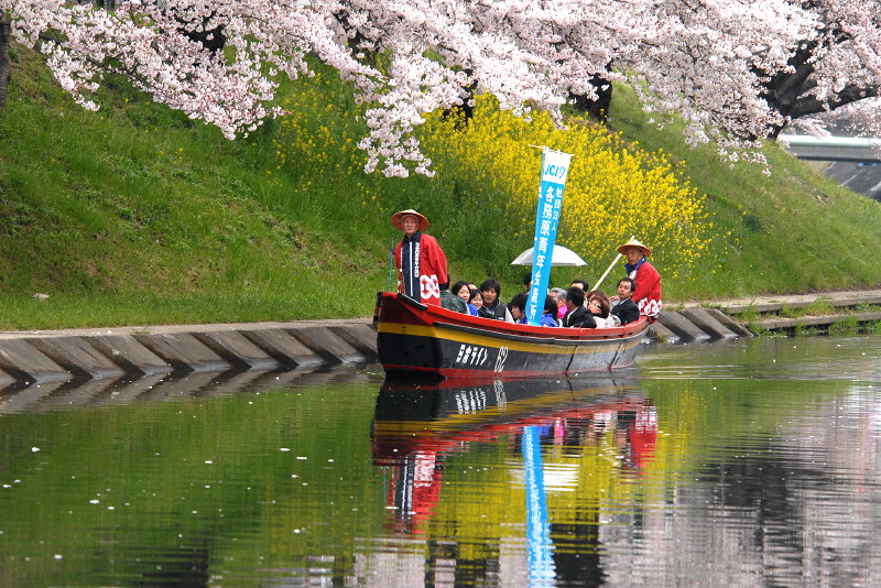
[[[369,318],[0,334],[0,388],[377,360]]]

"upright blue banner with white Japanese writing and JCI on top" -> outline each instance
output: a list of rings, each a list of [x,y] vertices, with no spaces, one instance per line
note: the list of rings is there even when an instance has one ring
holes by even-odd
[[[532,241],[532,287],[526,301],[526,318],[530,325],[542,319],[554,242],[557,240],[557,222],[563,208],[563,189],[569,173],[572,155],[545,149],[542,153],[542,183],[539,186],[539,208],[535,213],[535,238]]]

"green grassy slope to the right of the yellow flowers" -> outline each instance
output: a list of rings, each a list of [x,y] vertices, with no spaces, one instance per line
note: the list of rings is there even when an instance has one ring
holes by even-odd
[[[727,247],[706,287],[683,297],[742,296],[874,287],[881,263],[872,251],[881,238],[881,205],[853,194],[775,143],[764,153],[771,175],[758,165],[720,162],[707,146],[688,149],[679,129],[649,124],[627,92],[613,100],[610,124],[644,149],[684,161],[685,174],[716,217]]]

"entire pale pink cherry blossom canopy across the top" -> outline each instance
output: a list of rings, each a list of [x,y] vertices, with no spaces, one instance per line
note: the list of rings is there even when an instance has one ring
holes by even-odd
[[[629,83],[661,121],[685,120],[689,143],[713,141],[732,160],[754,159],[755,141],[775,137],[797,113],[776,89],[793,83],[800,66],[813,68],[800,96],[817,102],[840,99],[849,85],[873,87],[877,9],[859,7],[856,0],[118,0],[105,10],[0,0],[0,97],[6,22],[12,39],[41,48],[84,107],[98,107],[102,76],[115,73],[229,138],[279,115],[272,105],[280,77],[309,75],[318,59],[365,105],[360,148],[368,172],[431,174],[414,131],[427,112],[468,106],[471,92],[492,94],[518,115],[546,110],[562,123],[573,96],[608,98],[612,81]]]

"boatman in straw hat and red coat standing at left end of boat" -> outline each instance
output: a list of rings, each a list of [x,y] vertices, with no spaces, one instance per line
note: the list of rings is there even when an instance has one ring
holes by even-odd
[[[423,304],[440,304],[440,291],[449,287],[447,258],[437,239],[423,231],[428,219],[412,208],[395,213],[391,218],[394,228],[404,231],[404,238],[394,249],[398,266],[398,292]]]

